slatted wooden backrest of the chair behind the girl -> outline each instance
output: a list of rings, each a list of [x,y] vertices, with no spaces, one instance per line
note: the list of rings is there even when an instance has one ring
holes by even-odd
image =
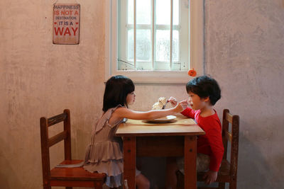
[[[64,122],[64,130],[53,137],[48,137],[48,127],[59,122]],[[71,160],[71,132],[70,132],[70,110],[64,110],[62,114],[52,118],[40,118],[40,142],[41,160],[43,165],[43,178],[50,176],[50,152],[49,148],[64,140],[65,160]]]

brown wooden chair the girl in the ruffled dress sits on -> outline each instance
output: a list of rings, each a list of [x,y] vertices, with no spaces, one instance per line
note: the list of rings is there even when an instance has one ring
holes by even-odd
[[[64,122],[64,130],[54,137],[48,138],[48,127]],[[84,168],[58,168],[50,170],[49,148],[54,144],[64,140],[65,160],[61,164],[79,164],[82,160],[71,159],[71,130],[70,130],[70,110],[64,110],[60,115],[52,118],[40,118],[40,141],[41,159],[43,165],[43,188],[50,189],[51,186],[72,187],[92,187],[102,189],[106,175],[104,173],[90,173]]]

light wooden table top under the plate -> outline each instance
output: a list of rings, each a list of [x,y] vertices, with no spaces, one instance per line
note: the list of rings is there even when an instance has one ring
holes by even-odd
[[[187,136],[203,135],[205,132],[191,118],[178,116],[170,122],[151,123],[146,120],[127,120],[119,125],[118,137]]]

